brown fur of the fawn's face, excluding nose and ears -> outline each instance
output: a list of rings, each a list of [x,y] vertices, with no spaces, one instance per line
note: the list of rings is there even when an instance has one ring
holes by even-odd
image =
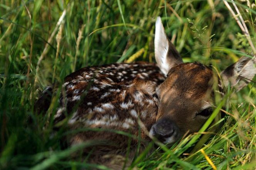
[[[212,103],[212,79],[212,70],[201,63],[182,63],[173,67],[157,90],[160,99],[157,120],[170,118],[176,122],[181,135],[187,130],[197,132],[205,120],[196,119],[196,113],[206,102]]]

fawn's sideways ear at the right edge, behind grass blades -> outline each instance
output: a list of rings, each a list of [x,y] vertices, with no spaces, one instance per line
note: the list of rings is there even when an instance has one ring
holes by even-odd
[[[221,72],[224,86],[227,87],[230,82],[231,87],[234,86],[238,91],[242,89],[256,74],[255,63],[255,57],[251,59],[244,56],[236,63],[228,66],[228,68]]]

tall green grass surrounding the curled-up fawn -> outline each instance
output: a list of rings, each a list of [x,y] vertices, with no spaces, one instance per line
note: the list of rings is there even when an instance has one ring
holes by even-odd
[[[256,2],[250,2],[236,5],[255,44]],[[184,62],[212,64],[220,71],[251,54],[246,36],[220,0],[0,0],[0,169],[106,169],[70,158],[91,143],[63,150],[66,132],[51,136],[60,91],[46,116],[35,114],[32,106],[45,86],[60,87],[81,67],[123,62],[133,54],[138,61],[154,62],[157,16]],[[231,90],[227,101],[216,103],[218,109],[228,106],[218,132],[207,135],[206,124],[171,148],[160,145],[149,157],[146,150],[132,167],[254,169],[255,96],[253,83],[240,92]]]

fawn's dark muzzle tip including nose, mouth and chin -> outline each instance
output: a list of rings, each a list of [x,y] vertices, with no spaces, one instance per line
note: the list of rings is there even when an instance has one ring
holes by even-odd
[[[158,120],[149,131],[149,137],[155,137],[164,144],[173,144],[179,136],[179,128],[168,118]]]

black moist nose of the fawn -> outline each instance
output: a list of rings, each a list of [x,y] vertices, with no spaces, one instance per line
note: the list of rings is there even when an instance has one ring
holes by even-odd
[[[177,125],[167,118],[158,120],[156,124],[154,124],[153,128],[155,136],[161,141],[164,141],[164,138],[171,137],[176,134],[178,129]]]

